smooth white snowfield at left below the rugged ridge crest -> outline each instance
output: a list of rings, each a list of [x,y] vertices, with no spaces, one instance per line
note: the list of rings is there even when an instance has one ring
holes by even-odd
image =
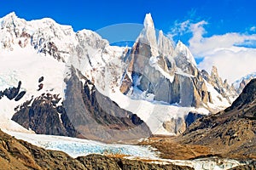
[[[21,90],[26,94],[19,101],[0,99],[0,128],[28,132],[26,128],[11,121],[15,107],[26,100],[34,99],[41,94],[60,94],[64,98],[65,84],[63,82],[65,64],[58,62],[52,56],[37,54],[30,47],[16,47],[13,51],[0,51],[0,91],[5,88],[17,87],[21,81]],[[44,88],[38,91],[38,78],[44,76]]]

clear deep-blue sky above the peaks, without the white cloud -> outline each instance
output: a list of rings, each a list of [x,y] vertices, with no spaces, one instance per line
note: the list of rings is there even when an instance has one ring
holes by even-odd
[[[168,32],[175,21],[207,20],[209,35],[247,31],[256,26],[256,2],[253,0],[171,0],[171,1],[32,1],[2,0],[1,16],[12,11],[26,20],[49,17],[73,26],[75,31],[97,30],[119,23],[142,23],[151,13],[154,25]]]

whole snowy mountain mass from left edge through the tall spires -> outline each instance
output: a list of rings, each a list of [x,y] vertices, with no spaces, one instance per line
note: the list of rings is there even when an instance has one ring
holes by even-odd
[[[74,32],[51,19],[26,21],[11,13],[0,23],[1,128],[139,139],[182,133],[189,112],[208,114],[230,105],[230,94],[220,93],[230,86],[199,71],[182,42],[175,46],[162,31],[156,38],[151,14],[132,48],[110,46],[94,31]],[[22,91],[17,101],[7,98]],[[51,119],[58,126],[49,132]]]

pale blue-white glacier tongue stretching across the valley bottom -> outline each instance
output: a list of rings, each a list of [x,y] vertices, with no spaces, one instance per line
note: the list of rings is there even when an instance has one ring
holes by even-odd
[[[168,164],[172,163],[180,166],[194,167],[196,170],[226,170],[232,167],[249,164],[250,161],[236,161],[218,157],[208,157],[195,160],[171,160],[161,159],[157,150],[148,146],[138,146],[132,144],[105,144],[87,139],[75,139],[63,136],[9,132],[16,139],[26,140],[31,144],[38,145],[47,150],[61,150],[69,156],[87,156],[90,154],[119,155],[127,159],[146,159],[148,162]]]

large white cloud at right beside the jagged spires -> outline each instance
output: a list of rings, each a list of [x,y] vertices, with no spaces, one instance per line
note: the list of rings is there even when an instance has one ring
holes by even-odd
[[[226,33],[203,37],[206,33],[204,26],[207,22],[190,24],[193,37],[189,39],[189,49],[195,58],[204,58],[199,67],[211,71],[216,65],[219,75],[229,82],[256,71],[256,48],[247,48],[248,44],[255,44],[256,35],[241,33]]]

